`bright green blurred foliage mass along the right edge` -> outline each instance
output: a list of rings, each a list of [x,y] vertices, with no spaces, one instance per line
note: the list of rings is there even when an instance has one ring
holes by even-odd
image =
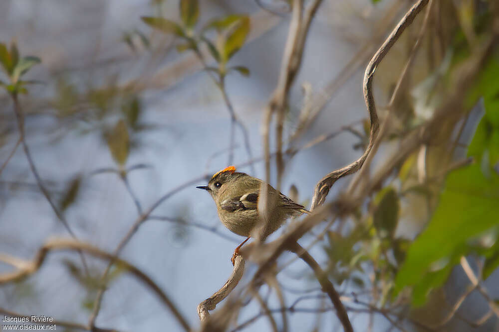
[[[481,98],[485,106],[468,147],[468,156],[476,163],[448,175],[428,227],[411,245],[397,275],[396,292],[404,286],[417,285],[413,294],[416,305],[425,302],[431,288],[445,282],[462,255],[477,252],[478,248],[469,245],[472,239],[486,231],[490,233],[499,224],[499,172],[495,168],[499,164],[498,59],[493,57],[484,67],[470,97],[474,101]],[[493,243],[498,242],[495,237]],[[485,278],[499,264],[496,247],[487,250]]]

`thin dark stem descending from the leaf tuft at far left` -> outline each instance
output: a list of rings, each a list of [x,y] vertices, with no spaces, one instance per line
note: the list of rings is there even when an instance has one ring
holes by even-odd
[[[34,165],[33,158],[31,157],[31,153],[29,152],[28,145],[26,143],[26,137],[24,134],[24,114],[22,113],[21,107],[19,105],[19,100],[17,99],[17,94],[12,94],[12,101],[14,103],[14,112],[15,112],[15,118],[17,120],[17,128],[19,130],[19,140],[22,144],[22,148],[24,150],[24,154],[26,155],[26,159],[29,164],[29,168],[31,169],[31,173],[33,173],[34,178],[36,180],[36,184],[38,185],[38,188],[40,189],[41,193],[43,196],[45,196],[45,199],[47,200],[48,204],[52,208],[53,212],[55,213],[55,216],[59,219],[59,221],[63,224],[63,226],[66,228],[68,233],[74,238],[77,239],[76,234],[73,232],[71,227],[69,226],[69,223],[67,222],[66,218],[64,215],[57,209],[55,206],[55,203],[52,201],[52,198],[50,197],[50,194],[48,190],[45,188],[43,185],[43,182],[41,181],[40,175],[38,174],[38,170],[36,169],[36,166]],[[85,257],[81,252],[79,252],[80,258],[81,258],[81,263],[83,264],[83,268],[85,270],[85,273],[88,275],[88,265],[85,260]]]

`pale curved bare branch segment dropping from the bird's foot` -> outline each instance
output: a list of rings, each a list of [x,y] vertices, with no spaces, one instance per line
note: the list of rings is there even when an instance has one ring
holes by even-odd
[[[210,310],[215,310],[217,304],[222,302],[231,292],[232,290],[238,285],[239,281],[243,277],[243,273],[245,271],[245,260],[241,255],[236,257],[236,261],[234,264],[234,268],[232,270],[232,274],[227,280],[227,282],[222,286],[221,289],[219,289],[217,292],[215,292],[211,297],[206,299],[205,301],[201,302],[198,306],[198,315],[199,319],[201,322],[205,323],[209,320],[210,318]]]

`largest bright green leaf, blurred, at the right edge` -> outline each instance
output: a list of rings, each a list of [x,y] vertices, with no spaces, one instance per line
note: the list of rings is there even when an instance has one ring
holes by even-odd
[[[436,262],[463,254],[469,239],[490,230],[499,222],[499,175],[484,175],[472,164],[449,174],[440,203],[427,228],[416,238],[400,268],[395,292],[405,286],[429,289],[445,280],[428,283],[425,278]],[[458,257],[459,258],[459,257]]]

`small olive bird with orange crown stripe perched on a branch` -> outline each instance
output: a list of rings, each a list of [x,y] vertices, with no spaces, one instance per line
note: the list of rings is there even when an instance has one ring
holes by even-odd
[[[246,236],[231,258],[235,264],[239,249],[250,239],[255,226],[261,221],[258,213],[260,189],[267,186],[267,209],[272,209],[268,224],[260,236],[265,238],[279,228],[290,217],[301,214],[310,214],[303,206],[294,203],[290,198],[279,193],[272,186],[246,173],[236,172],[236,167],[229,166],[215,173],[208,182],[208,186],[196,188],[206,190],[212,195],[219,218],[232,232]],[[271,203],[274,202],[272,205]],[[271,208],[270,208],[271,209]]]

